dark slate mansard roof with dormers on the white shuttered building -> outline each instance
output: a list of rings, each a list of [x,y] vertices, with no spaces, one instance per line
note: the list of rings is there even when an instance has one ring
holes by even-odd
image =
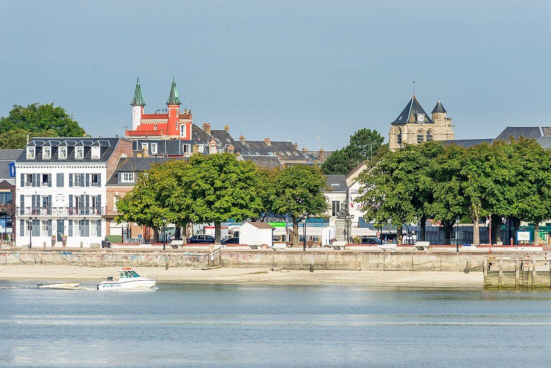
[[[44,162],[106,162],[115,151],[121,140],[130,141],[126,138],[104,138],[104,137],[82,137],[82,138],[33,138],[27,147],[34,146],[35,158],[26,158],[26,150],[23,150],[17,162],[26,163],[44,163]],[[84,147],[84,157],[75,158],[75,147]],[[91,147],[100,146],[100,158],[91,158]],[[42,147],[51,148],[51,158],[42,158]],[[67,147],[67,158],[58,158],[58,147]]]

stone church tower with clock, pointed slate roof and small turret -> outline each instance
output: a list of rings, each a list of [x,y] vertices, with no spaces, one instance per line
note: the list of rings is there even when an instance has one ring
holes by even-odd
[[[391,122],[388,148],[395,151],[402,148],[404,143],[446,141],[453,140],[454,137],[451,118],[447,117],[440,100],[434,106],[430,117],[413,95],[402,113]]]

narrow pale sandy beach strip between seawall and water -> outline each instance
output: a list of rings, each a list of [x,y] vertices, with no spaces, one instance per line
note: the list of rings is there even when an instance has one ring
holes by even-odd
[[[372,288],[482,289],[482,272],[327,271],[137,267],[139,274],[162,282],[263,285],[357,285]],[[0,280],[100,280],[114,267],[1,265]]]

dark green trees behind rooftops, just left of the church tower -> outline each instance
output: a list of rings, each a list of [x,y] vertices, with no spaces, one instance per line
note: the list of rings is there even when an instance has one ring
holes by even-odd
[[[326,175],[346,175],[361,162],[376,156],[385,138],[376,130],[360,129],[350,136],[350,143],[336,150],[322,164]]]

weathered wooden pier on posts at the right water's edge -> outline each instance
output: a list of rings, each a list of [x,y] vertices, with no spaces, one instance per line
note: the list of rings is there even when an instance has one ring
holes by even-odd
[[[486,257],[484,289],[551,290],[551,255]]]

